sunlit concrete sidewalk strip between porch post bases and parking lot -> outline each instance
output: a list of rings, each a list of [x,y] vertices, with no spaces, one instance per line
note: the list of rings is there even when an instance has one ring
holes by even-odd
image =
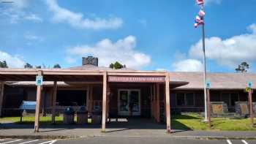
[[[174,130],[167,134],[165,129],[126,129],[108,128],[107,132],[100,132],[97,127],[83,128],[79,126],[42,126],[38,133],[34,133],[33,125],[15,125],[16,129],[7,127],[0,130],[1,138],[78,138],[78,137],[182,137],[195,139],[256,139],[256,132],[220,132],[220,131],[181,131]]]

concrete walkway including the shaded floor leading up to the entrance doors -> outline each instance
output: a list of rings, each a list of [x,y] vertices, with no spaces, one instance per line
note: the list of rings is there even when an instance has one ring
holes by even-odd
[[[134,119],[132,121],[111,122],[102,133],[100,125],[40,125],[38,133],[34,133],[33,124],[0,124],[0,138],[77,138],[77,137],[182,137],[196,139],[254,139],[255,131],[223,132],[223,131],[182,131],[175,129],[167,134],[165,124]]]

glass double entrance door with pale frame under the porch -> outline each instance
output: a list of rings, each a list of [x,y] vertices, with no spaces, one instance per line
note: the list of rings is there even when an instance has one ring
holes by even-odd
[[[140,90],[118,90],[118,115],[140,115]]]

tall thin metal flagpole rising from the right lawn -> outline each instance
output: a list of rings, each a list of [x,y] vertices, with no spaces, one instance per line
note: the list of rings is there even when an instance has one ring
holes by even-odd
[[[204,7],[202,5],[202,10],[204,11]],[[207,115],[207,91],[206,91],[206,42],[205,42],[206,36],[205,36],[205,20],[203,18],[203,25],[202,25],[202,42],[203,42],[203,92],[204,92],[204,100],[205,100],[205,120],[208,121],[208,115]]]

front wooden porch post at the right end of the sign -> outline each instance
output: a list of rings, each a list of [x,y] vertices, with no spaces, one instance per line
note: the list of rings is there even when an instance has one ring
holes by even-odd
[[[166,110],[166,130],[170,133],[170,76],[165,75],[165,110]]]

